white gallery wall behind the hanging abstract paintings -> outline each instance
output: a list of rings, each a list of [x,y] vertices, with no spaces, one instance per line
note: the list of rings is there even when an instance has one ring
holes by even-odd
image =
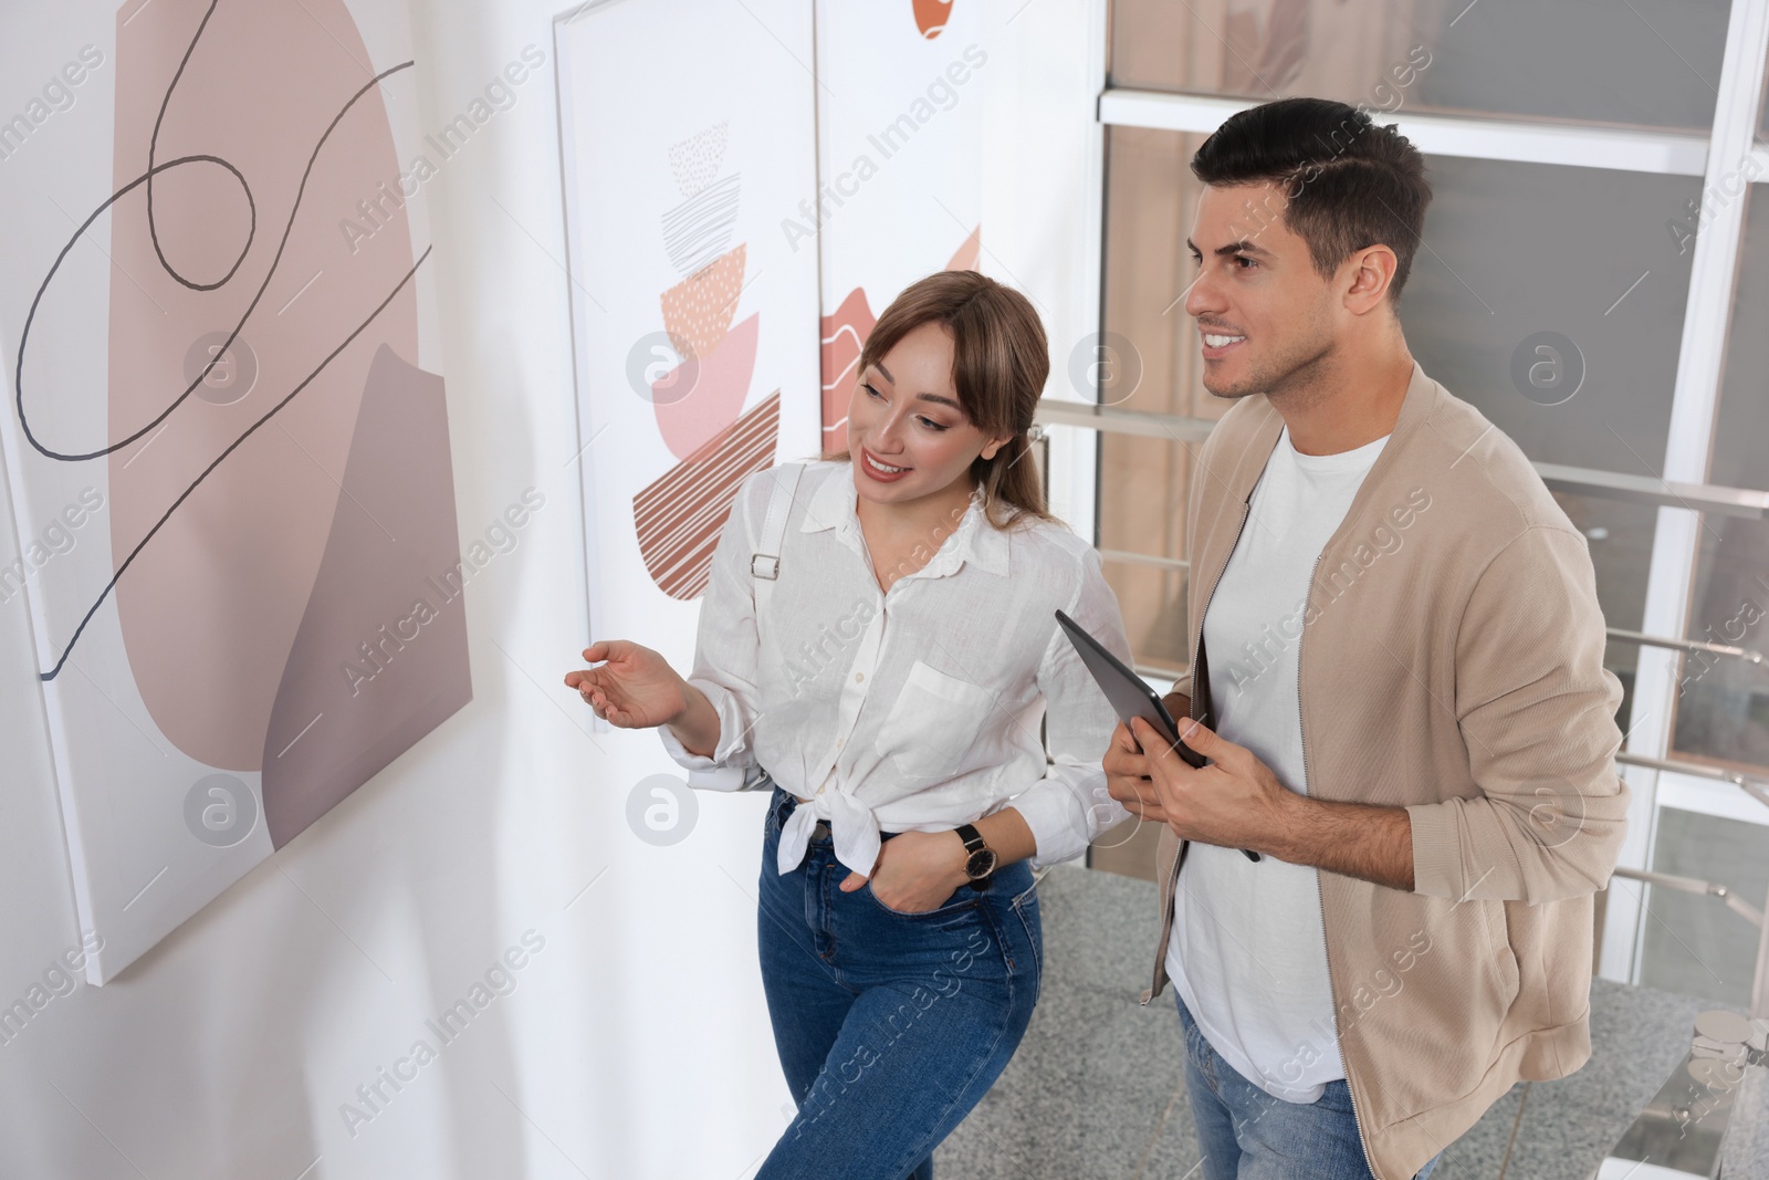
[[[19,62],[35,69],[51,27],[90,25],[73,57],[115,39],[138,4],[71,0],[53,18],[7,5],[0,117],[39,96],[44,78]],[[775,7],[750,0],[747,19]],[[1097,281],[1102,19],[1097,0],[1015,7],[976,0],[966,25],[989,53],[975,78],[987,87],[976,265],[1038,301],[1051,393],[1065,395]],[[911,2],[900,9],[913,23]],[[417,126],[492,108],[421,182],[440,341],[426,364],[446,375],[460,547],[492,554],[465,593],[471,704],[94,987],[67,969],[83,934],[25,600],[0,603],[0,1005],[30,1010],[0,1038],[0,1176],[739,1178],[785,1123],[755,966],[762,800],[701,794],[686,839],[640,839],[628,796],[674,764],[655,734],[596,731],[561,685],[589,639],[561,11],[410,5]],[[840,5],[817,19],[840,21]],[[667,71],[670,41],[690,35],[658,21],[633,51]],[[766,44],[775,57],[729,64],[734,88],[747,71],[810,67]],[[534,53],[541,67],[488,96]],[[23,152],[97,133],[81,120],[108,111],[74,96]],[[21,184],[18,163],[0,161],[0,189]],[[814,379],[782,402],[814,416]],[[0,566],[21,540],[0,529]],[[667,633],[630,637],[686,667],[692,632],[667,619]]]

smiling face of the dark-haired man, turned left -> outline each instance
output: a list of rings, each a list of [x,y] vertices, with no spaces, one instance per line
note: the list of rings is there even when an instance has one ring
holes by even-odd
[[[1198,198],[1185,311],[1198,320],[1205,389],[1219,398],[1283,393],[1332,354],[1334,285],[1284,225],[1284,203],[1272,182],[1206,184]]]

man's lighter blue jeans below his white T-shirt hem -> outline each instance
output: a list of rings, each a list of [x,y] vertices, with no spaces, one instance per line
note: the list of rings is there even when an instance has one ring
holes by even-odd
[[[1185,1033],[1185,1092],[1198,1123],[1203,1180],[1371,1180],[1352,1116],[1346,1081],[1327,1083],[1314,1102],[1284,1102],[1224,1061],[1173,989]],[[1413,1180],[1426,1180],[1438,1152]]]

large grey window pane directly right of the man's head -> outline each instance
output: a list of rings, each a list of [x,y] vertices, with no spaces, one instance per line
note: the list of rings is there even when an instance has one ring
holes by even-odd
[[[1401,297],[1426,372],[1535,462],[1659,474],[1693,249],[1666,230],[1696,177],[1428,161]]]

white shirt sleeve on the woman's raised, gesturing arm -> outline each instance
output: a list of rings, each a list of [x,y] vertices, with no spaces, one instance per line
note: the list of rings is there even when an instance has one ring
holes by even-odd
[[[741,791],[748,777],[759,699],[755,594],[750,587],[750,554],[755,548],[750,534],[750,504],[757,492],[766,494],[773,487],[771,472],[762,476],[752,476],[738,490],[731,517],[718,534],[706,593],[701,598],[701,626],[688,683],[706,693],[713,711],[718,713],[718,747],[711,757],[690,754],[669,725],[658,725],[663,750],[688,771],[690,787]]]

